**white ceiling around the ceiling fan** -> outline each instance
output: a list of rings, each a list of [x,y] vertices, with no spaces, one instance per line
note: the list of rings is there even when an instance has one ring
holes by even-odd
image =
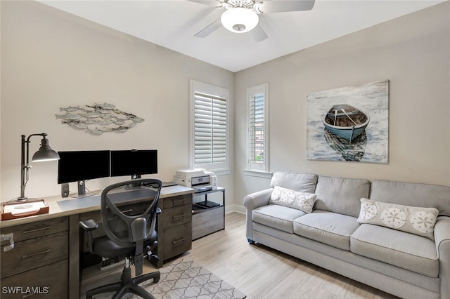
[[[260,15],[269,38],[259,43],[250,33],[236,34],[224,27],[203,39],[195,37],[223,10],[187,0],[38,1],[238,72],[445,0],[316,0],[311,11]]]

